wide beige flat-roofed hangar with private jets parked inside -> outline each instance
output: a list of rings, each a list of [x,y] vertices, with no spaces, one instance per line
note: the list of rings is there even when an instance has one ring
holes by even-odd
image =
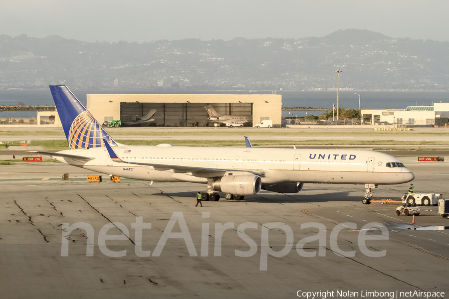
[[[100,123],[143,118],[155,109],[150,126],[214,126],[204,108],[208,105],[220,115],[250,116],[245,126],[262,120],[281,124],[282,96],[276,94],[87,94],[87,109]]]

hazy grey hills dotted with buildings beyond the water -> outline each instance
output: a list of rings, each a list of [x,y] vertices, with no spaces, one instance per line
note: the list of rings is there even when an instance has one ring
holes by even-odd
[[[83,42],[0,35],[0,88],[449,90],[449,42],[346,29],[300,39]]]

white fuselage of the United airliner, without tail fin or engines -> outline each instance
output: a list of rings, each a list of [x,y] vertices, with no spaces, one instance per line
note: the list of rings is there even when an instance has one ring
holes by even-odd
[[[61,153],[94,157],[90,161],[57,157],[70,165],[109,175],[140,180],[207,183],[201,172],[175,171],[151,163],[209,169],[264,172],[262,183],[303,182],[333,184],[401,184],[414,179],[406,167],[387,167],[399,162],[376,151],[345,149],[266,149],[173,146],[113,147],[124,162],[113,161],[106,148],[68,149]],[[395,163],[396,164],[396,163]],[[401,163],[402,164],[402,163]]]

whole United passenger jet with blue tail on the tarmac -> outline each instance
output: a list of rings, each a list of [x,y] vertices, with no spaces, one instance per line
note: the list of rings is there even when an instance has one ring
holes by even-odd
[[[51,85],[70,149],[55,153],[61,162],[127,178],[207,184],[210,200],[242,199],[261,189],[300,192],[304,183],[402,184],[415,178],[397,158],[370,150],[266,149],[225,147],[126,146],[115,142],[73,93]],[[205,188],[206,189],[206,188]]]

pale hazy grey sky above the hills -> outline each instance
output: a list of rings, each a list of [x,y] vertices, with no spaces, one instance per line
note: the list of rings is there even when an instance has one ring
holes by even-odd
[[[82,41],[302,38],[357,28],[449,41],[449,0],[4,0],[0,34]]]

